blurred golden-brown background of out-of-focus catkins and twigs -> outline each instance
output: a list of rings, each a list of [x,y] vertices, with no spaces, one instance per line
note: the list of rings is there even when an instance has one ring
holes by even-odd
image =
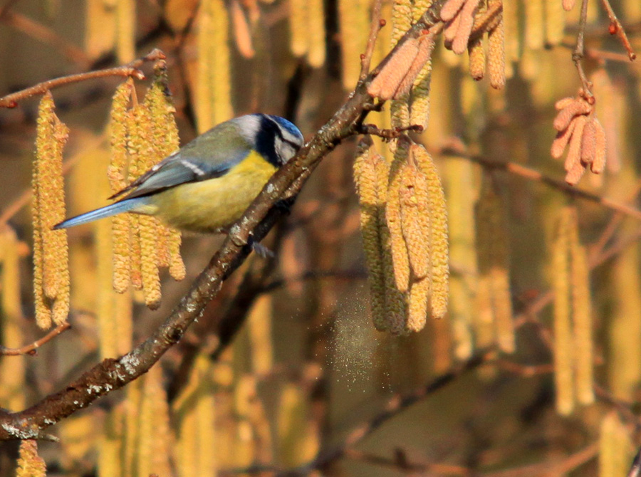
[[[160,48],[167,55],[181,144],[248,112],[288,117],[308,139],[358,80],[371,3],[3,0],[0,95],[128,63]],[[388,25],[373,64],[391,48],[392,4],[383,4]],[[615,0],[612,6],[641,51],[641,3]],[[429,320],[410,336],[374,330],[353,187],[355,141],[347,141],[323,160],[291,214],[266,239],[276,251],[273,261],[252,256],[150,373],[53,426],[60,442],[40,444],[49,476],[203,477],[296,468],[336,476],[625,475],[640,442],[641,229],[638,214],[622,214],[599,198],[638,204],[641,67],[608,34],[601,2],[588,1],[583,63],[608,135],[608,168],[579,184],[591,199],[568,194],[550,146],[554,104],[580,87],[571,58],[579,6],[566,13],[561,0],[510,0],[509,8],[516,21],[506,24],[506,88],[472,80],[467,56],[455,56],[439,41],[429,125],[415,136],[433,153],[448,201],[447,317]],[[151,65],[142,70],[152,77]],[[120,81],[88,80],[53,90],[58,116],[71,129],[65,150],[73,164],[66,175],[68,216],[107,203],[106,125]],[[135,84],[142,97],[149,82]],[[37,102],[0,110],[0,214],[2,225],[15,231],[11,253],[19,257],[9,274],[5,242],[8,278],[0,293],[7,347],[43,335],[33,320],[25,200]],[[370,120],[385,126],[389,112],[372,113]],[[463,145],[465,153],[443,153],[452,145]],[[386,153],[385,145],[377,146]],[[484,170],[466,157],[474,154],[518,164],[521,173],[487,165]],[[393,409],[390,399],[424,389],[493,341],[482,333],[487,305],[478,293],[482,251],[476,237],[486,224],[475,219],[474,208],[484,175],[501,197],[505,226],[496,240],[509,245],[516,352],[457,374],[412,406],[392,411],[360,439],[355,430]],[[558,272],[551,253],[556,224],[568,205],[577,211],[580,241],[593,267],[591,297],[584,299],[592,303],[596,399],[561,416],[555,408],[549,292]],[[118,323],[112,330],[117,354],[144,340],[220,242],[217,236],[184,236],[187,278],[164,279],[162,306],[150,311],[137,293],[115,296],[101,285],[95,230],[71,229],[73,329],[36,356],[0,357],[0,406],[24,409],[107,357],[100,348],[100,320]],[[14,298],[10,289],[17,290]],[[231,345],[212,355],[219,333],[213,318],[221,315],[245,321]],[[0,476],[14,475],[17,446],[0,444]]]

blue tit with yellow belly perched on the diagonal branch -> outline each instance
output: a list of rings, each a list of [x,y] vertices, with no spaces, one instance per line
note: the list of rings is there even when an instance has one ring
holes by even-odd
[[[282,117],[236,117],[204,132],[110,197],[121,197],[117,202],[54,229],[132,212],[157,216],[184,231],[219,231],[240,218],[302,145],[298,127]]]

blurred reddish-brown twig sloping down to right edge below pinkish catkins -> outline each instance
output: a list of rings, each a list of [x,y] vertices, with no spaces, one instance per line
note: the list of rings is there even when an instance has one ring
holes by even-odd
[[[574,186],[570,186],[565,181],[553,179],[548,177],[541,172],[538,172],[536,169],[530,169],[529,167],[521,166],[521,164],[516,164],[515,162],[499,162],[492,159],[488,159],[483,156],[474,155],[474,154],[464,154],[459,150],[453,150],[450,148],[443,148],[438,151],[434,151],[435,154],[441,154],[444,157],[460,157],[464,159],[469,159],[471,162],[476,162],[487,169],[499,169],[501,171],[509,172],[524,179],[528,179],[534,182],[541,182],[546,184],[549,187],[558,189],[569,196],[574,196],[578,199],[584,199],[591,202],[596,202],[601,206],[611,209],[613,211],[620,212],[634,219],[641,220],[641,211],[635,209],[634,207],[621,204],[620,202],[614,201],[613,199],[608,199],[608,197],[603,197],[598,194],[593,194],[592,192],[585,191],[583,189],[578,189]]]

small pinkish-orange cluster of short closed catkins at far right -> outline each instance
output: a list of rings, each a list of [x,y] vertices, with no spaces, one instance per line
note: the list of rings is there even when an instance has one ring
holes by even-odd
[[[561,159],[568,149],[565,169],[566,182],[570,185],[578,184],[588,167],[595,174],[605,168],[605,130],[595,117],[590,99],[580,91],[576,98],[563,98],[555,105],[558,114],[553,125],[558,132],[551,154]]]

